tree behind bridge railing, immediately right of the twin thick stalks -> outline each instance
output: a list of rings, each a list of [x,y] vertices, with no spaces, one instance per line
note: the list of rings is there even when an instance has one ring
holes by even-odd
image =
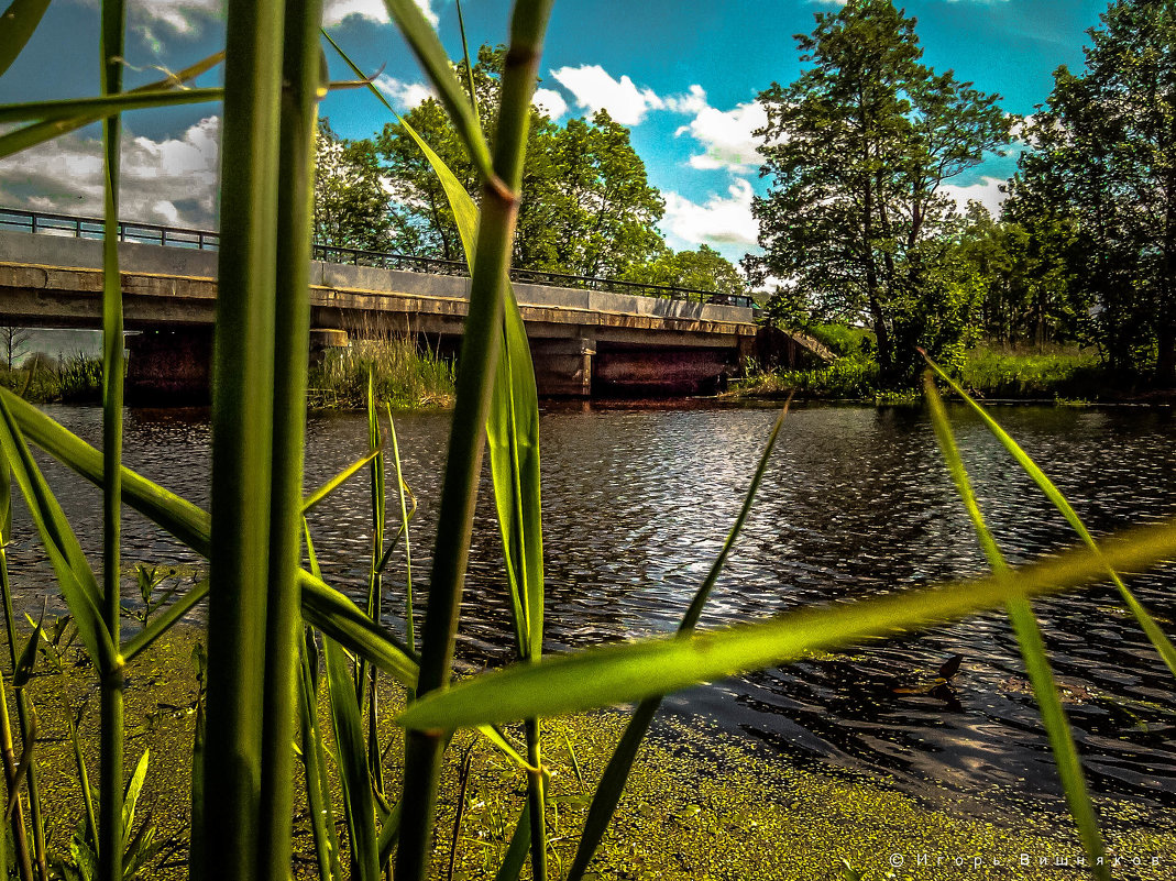
[[[403,231],[393,235],[392,195],[372,141],[346,140],[329,120],[319,120],[314,178],[315,242],[366,251],[407,246]]]

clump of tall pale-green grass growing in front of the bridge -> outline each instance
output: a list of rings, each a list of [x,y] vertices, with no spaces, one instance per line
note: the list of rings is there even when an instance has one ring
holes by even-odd
[[[348,348],[325,352],[310,366],[307,401],[315,408],[363,409],[369,374],[376,400],[394,409],[453,403],[453,361],[397,338],[356,340]]]

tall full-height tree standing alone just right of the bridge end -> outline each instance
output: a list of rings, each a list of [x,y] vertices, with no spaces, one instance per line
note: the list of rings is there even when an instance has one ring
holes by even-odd
[[[753,202],[764,254],[746,266],[754,282],[786,280],[793,301],[777,312],[868,320],[882,381],[901,382],[915,345],[954,347],[970,333],[967,311],[930,314],[949,288],[953,303],[971,302],[941,283],[958,279],[942,186],[1003,147],[1009,119],[997,95],[921,65],[915,20],[889,0],[849,0],[796,39],[813,66],[759,96],[762,174],[774,180]]]

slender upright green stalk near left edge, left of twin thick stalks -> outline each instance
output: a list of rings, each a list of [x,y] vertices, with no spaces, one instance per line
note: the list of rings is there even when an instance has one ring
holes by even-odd
[[[102,94],[122,91],[122,49],[126,8],[122,0],[102,0]],[[122,626],[122,281],[119,274],[119,149],[118,115],[102,122],[106,152],[106,222],[102,240],[102,619],[115,658]],[[98,663],[98,659],[95,659]],[[98,807],[98,876],[122,881],[122,669],[102,669],[101,761]]]

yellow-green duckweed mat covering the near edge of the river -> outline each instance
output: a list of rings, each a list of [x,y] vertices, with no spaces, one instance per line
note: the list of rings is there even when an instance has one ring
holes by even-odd
[[[200,687],[193,658],[199,655],[201,635],[196,627],[176,628],[129,667],[128,770],[149,750],[136,816],[151,817],[162,846],[147,872],[149,877],[186,876]],[[93,776],[98,706],[92,669],[78,666],[75,649],[65,653],[60,673],[51,669],[46,658],[39,660],[28,692],[40,722],[36,768],[47,833],[51,848],[65,856],[83,816],[69,720],[81,720],[82,754]],[[393,716],[403,693],[388,687],[385,701],[382,737],[389,745],[387,755],[393,756],[386,783],[394,793],[400,786],[401,740]],[[320,712],[326,719],[326,706]],[[552,770],[548,825],[557,866],[566,867],[572,859],[593,789],[626,721],[627,714],[604,712],[543,723],[544,761]],[[329,729],[329,725],[323,727]],[[333,750],[333,745],[328,747]],[[462,800],[460,766],[467,749],[469,776],[455,832],[456,806]],[[521,772],[466,733],[457,735],[449,755],[434,877],[446,876],[441,867],[448,863],[455,840],[453,877],[493,877],[522,805]],[[313,846],[301,776],[295,792],[295,868],[306,868],[301,874],[308,875]],[[1168,877],[1176,833],[1163,825],[1158,812],[1109,799],[1100,800],[1100,808],[1111,853],[1141,860],[1141,865],[1128,863],[1131,877]],[[846,877],[849,865],[863,879],[897,881],[1056,879],[1062,861],[1075,866],[1081,854],[1070,823],[1064,814],[1030,810],[1029,806],[1024,812],[1018,817],[984,821],[929,808],[864,776],[802,770],[783,756],[724,736],[703,720],[663,720],[643,747],[593,870],[602,879],[833,881]],[[1168,830],[1154,830],[1163,828]]]

